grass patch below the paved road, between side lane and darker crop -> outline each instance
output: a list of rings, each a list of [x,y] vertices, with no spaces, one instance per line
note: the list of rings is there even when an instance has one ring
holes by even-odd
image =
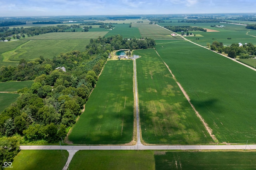
[[[79,150],[70,170],[154,170],[154,152],[138,150]]]

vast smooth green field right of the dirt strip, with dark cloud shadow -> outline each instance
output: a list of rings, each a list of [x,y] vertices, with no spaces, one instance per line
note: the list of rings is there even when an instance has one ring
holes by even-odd
[[[190,42],[156,45],[219,142],[256,143],[256,72]]]

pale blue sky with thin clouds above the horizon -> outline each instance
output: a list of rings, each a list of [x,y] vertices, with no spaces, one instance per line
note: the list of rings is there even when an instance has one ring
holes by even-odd
[[[252,13],[256,0],[0,0],[0,16]]]

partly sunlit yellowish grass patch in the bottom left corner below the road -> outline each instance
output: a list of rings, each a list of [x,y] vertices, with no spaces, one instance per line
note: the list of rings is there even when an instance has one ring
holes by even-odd
[[[62,170],[68,160],[66,150],[21,150],[12,162],[12,170]]]

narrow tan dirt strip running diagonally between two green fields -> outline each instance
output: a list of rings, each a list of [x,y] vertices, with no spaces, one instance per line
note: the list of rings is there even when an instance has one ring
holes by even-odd
[[[158,52],[156,51],[157,55],[160,57],[160,55],[158,54]],[[161,57],[160,57],[161,58]],[[162,59],[162,58],[161,58]],[[162,61],[164,62],[164,60],[162,59]],[[177,85],[180,87],[180,90],[182,91],[183,95],[186,97],[186,99],[188,100],[188,103],[190,104],[190,106],[193,108],[193,110],[196,113],[196,116],[200,119],[200,121],[203,123],[204,127],[206,128],[207,132],[210,134],[210,136],[212,137],[212,139],[214,140],[214,142],[218,142],[218,139],[216,138],[216,136],[214,134],[212,134],[212,129],[208,126],[208,124],[204,121],[204,119],[202,118],[202,116],[198,113],[198,111],[196,110],[196,108],[194,107],[194,105],[191,103],[190,98],[188,96],[188,94],[186,93],[186,91],[183,89],[183,87],[180,85],[180,83],[177,81],[176,77],[174,76],[174,74],[172,73],[171,69],[169,68],[169,66],[164,62],[164,64],[166,65],[166,67],[168,68],[168,70],[170,71],[170,73],[172,74],[173,79],[175,80],[175,82],[177,83]]]

